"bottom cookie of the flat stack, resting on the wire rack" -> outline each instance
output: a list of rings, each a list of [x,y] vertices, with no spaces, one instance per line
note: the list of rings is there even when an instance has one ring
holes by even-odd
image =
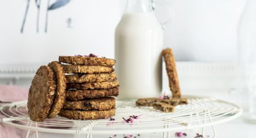
[[[116,109],[110,110],[65,110],[61,109],[58,115],[63,116],[69,119],[81,119],[81,120],[89,120],[89,119],[105,119],[110,116],[114,116],[116,113]]]

